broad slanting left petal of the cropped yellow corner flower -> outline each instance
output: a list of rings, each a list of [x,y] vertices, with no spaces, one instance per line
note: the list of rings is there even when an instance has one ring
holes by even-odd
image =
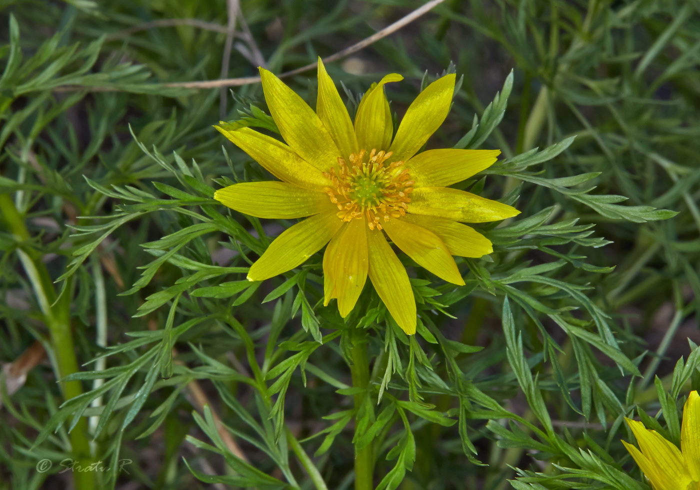
[[[640,421],[626,419],[629,428],[632,429],[634,437],[637,438],[639,449],[644,456],[652,463],[654,468],[657,468],[659,473],[665,475],[664,481],[659,482],[659,488],[664,488],[660,484],[670,484],[668,490],[685,489],[692,482],[688,469],[683,462],[683,456],[680,449],[675,447],[672,442],[661,437],[655,430],[649,430],[644,427]],[[646,474],[646,472],[645,472]],[[650,475],[647,475],[652,479]],[[656,484],[656,482],[654,482]]]

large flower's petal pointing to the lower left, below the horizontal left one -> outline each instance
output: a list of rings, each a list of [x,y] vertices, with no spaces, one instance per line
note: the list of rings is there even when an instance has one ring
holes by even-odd
[[[248,281],[263,281],[302,264],[328,243],[342,225],[337,209],[316,214],[284,230],[248,271]]]

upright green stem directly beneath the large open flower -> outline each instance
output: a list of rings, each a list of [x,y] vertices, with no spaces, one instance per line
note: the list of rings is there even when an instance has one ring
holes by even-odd
[[[355,421],[360,419],[365,409],[372,409],[371,405],[365,405],[367,400],[367,388],[370,384],[370,361],[367,358],[367,332],[362,328],[351,329],[352,349],[350,372],[352,374],[352,386],[363,388],[361,393],[356,393]],[[372,490],[374,482],[374,444],[367,444],[362,449],[355,451],[355,490]]]

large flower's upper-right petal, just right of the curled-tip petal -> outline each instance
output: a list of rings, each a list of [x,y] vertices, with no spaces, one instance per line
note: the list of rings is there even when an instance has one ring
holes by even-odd
[[[411,158],[440,127],[452,103],[454,79],[451,73],[430,83],[409,106],[389,148],[394,160]]]

